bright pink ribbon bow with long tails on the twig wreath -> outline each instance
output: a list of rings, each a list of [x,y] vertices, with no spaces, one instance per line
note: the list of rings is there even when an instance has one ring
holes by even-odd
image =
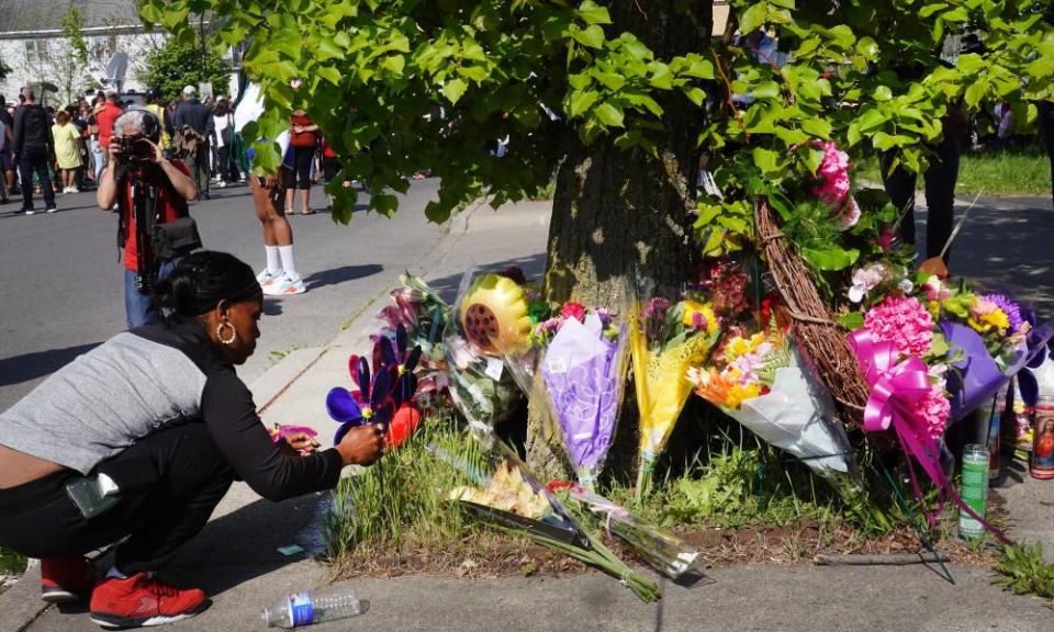
[[[909,456],[908,474],[911,477],[911,487],[930,527],[937,524],[937,519],[944,509],[945,498],[951,498],[962,510],[991,531],[1000,542],[1009,544],[1010,540],[1001,531],[977,516],[955,494],[952,483],[941,469],[940,449],[930,436],[930,429],[915,414],[913,405],[932,388],[926,363],[913,356],[898,363],[896,345],[888,340],[876,341],[866,329],[851,332],[846,337],[846,343],[856,356],[856,361],[872,387],[864,408],[864,430],[877,432],[893,426],[902,450]],[[912,458],[938,488],[937,511],[926,511],[922,490],[911,464]]]

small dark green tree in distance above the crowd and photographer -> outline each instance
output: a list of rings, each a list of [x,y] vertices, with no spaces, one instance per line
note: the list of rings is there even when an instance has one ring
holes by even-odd
[[[188,26],[188,29],[190,29]],[[202,46],[191,29],[189,37],[172,37],[149,53],[139,81],[160,90],[171,101],[188,84],[211,82],[217,94],[225,93],[231,81],[231,67],[214,47]]]

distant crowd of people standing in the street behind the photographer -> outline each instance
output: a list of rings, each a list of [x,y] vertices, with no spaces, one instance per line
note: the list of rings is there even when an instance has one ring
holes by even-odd
[[[138,98],[143,99],[137,103]],[[97,189],[109,160],[106,147],[113,123],[130,106],[143,105],[161,123],[159,147],[190,167],[199,198],[209,200],[213,188],[247,183],[245,148],[235,134],[234,104],[229,97],[199,97],[188,86],[172,101],[157,92],[130,100],[114,90],[80,97],[65,108],[41,105],[31,88],[19,93],[19,103],[0,95],[0,203],[22,200],[21,213],[36,213],[34,196],[48,213],[58,210],[56,194]],[[284,210],[292,212],[300,190],[301,213],[314,211],[309,189],[322,179],[325,158],[317,127],[303,112],[292,124],[294,144],[288,157],[291,183]],[[296,132],[304,128],[305,132]]]

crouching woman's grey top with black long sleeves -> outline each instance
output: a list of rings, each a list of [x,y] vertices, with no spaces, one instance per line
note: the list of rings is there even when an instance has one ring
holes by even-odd
[[[88,474],[182,422],[204,422],[238,477],[270,500],[340,477],[337,450],[301,456],[272,442],[248,387],[194,321],[133,329],[78,357],[0,413],[0,444]]]

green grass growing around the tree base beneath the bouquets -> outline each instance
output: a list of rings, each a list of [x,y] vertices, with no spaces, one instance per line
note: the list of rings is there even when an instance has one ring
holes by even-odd
[[[466,481],[429,453],[430,444],[463,462],[474,462],[479,454],[475,440],[457,429],[453,419],[425,419],[403,448],[341,481],[325,529],[332,560],[399,557],[421,551],[483,554],[487,545],[505,538],[447,499],[447,490]],[[886,487],[881,481],[868,483],[868,488],[879,490],[876,499],[848,477],[836,488],[749,433],[718,432],[706,453],[676,474],[661,474],[642,505],[636,505],[628,484],[607,482],[598,492],[633,508],[644,520],[673,529],[808,522],[822,532],[849,529],[867,539],[905,524],[896,507],[879,509],[893,505]]]

